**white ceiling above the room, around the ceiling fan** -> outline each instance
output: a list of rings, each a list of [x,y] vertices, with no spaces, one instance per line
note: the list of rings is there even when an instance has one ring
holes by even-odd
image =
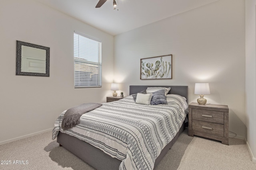
[[[117,35],[218,0],[113,0],[95,8],[98,0],[37,0],[60,12]]]

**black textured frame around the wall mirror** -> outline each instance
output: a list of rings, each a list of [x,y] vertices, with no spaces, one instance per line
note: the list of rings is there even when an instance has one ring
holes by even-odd
[[[34,47],[34,48],[37,48],[37,49],[46,50],[46,70],[45,70],[45,73],[21,72],[21,46],[22,45],[27,46],[27,47]],[[44,46],[41,46],[41,45],[25,43],[25,42],[17,40],[17,42],[16,42],[16,75],[49,77],[50,76],[50,48],[49,47],[44,47]]]

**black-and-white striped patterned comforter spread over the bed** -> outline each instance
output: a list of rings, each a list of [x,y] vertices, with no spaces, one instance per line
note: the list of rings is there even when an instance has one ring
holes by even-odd
[[[152,170],[187,114],[182,104],[168,103],[141,105],[128,96],[83,114],[80,123],[66,131],[61,128],[64,111],[54,124],[52,139],[61,131],[122,160],[120,170]]]

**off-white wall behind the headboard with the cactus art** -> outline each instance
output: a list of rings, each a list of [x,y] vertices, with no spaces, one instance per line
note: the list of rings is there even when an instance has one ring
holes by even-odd
[[[229,107],[230,131],[245,137],[245,2],[220,0],[114,37],[114,80],[129,85],[209,82],[211,104]],[[140,59],[173,55],[173,78],[140,80]]]

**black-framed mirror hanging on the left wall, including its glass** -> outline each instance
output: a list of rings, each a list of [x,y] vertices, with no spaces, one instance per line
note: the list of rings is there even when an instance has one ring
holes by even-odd
[[[16,75],[49,77],[50,48],[17,41]]]

